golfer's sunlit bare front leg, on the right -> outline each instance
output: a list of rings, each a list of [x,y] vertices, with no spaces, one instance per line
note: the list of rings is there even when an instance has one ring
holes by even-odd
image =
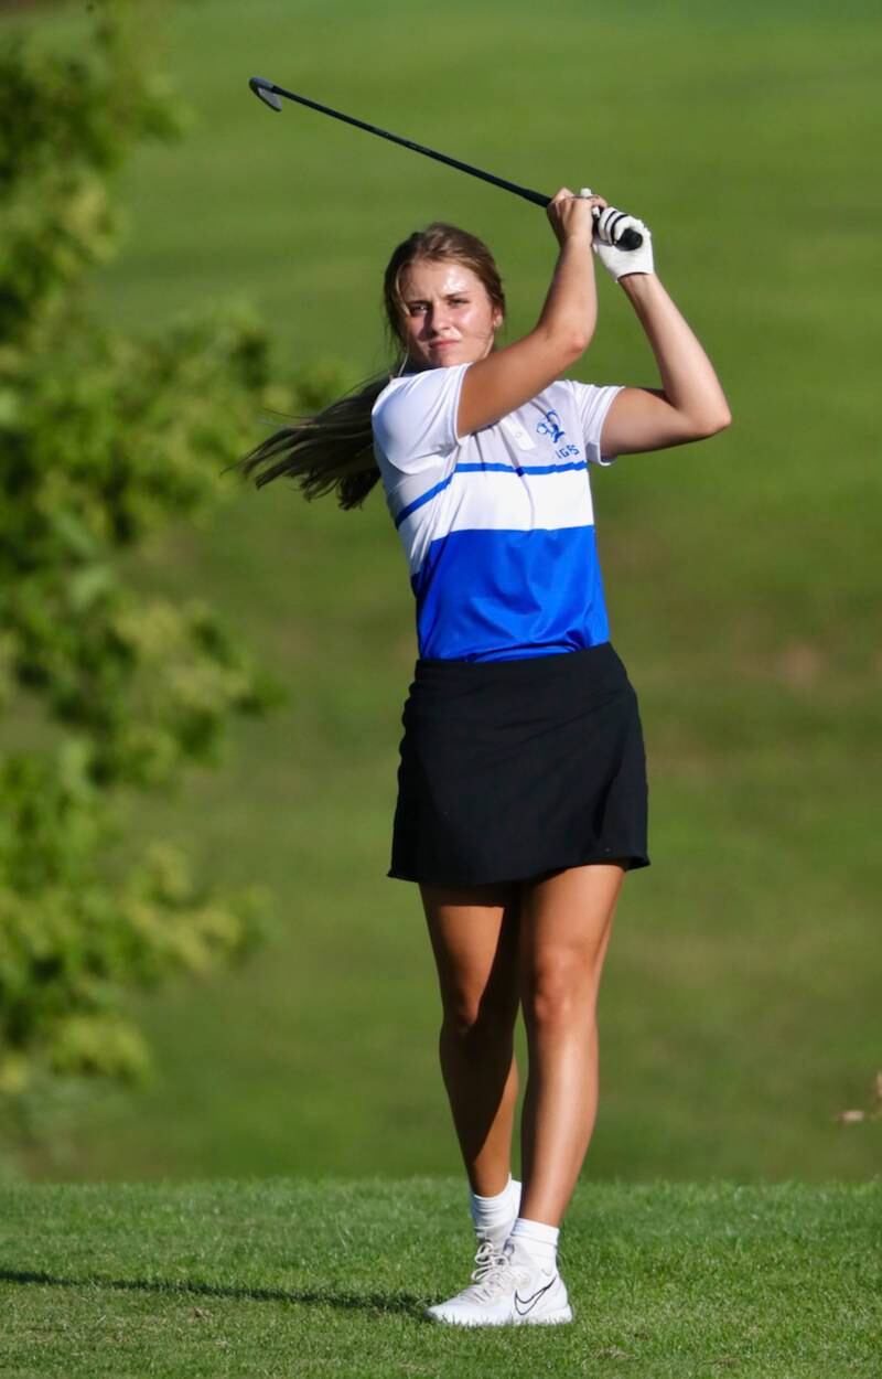
[[[598,1098],[597,993],[623,867],[569,867],[521,889],[521,998],[529,1081],[521,1215],[558,1226]]]

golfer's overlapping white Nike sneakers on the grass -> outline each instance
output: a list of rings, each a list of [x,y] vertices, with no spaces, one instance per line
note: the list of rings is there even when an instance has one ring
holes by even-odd
[[[484,1241],[475,1265],[469,1288],[426,1309],[429,1321],[451,1327],[524,1327],[573,1320],[557,1267],[543,1269],[514,1241],[504,1249]]]

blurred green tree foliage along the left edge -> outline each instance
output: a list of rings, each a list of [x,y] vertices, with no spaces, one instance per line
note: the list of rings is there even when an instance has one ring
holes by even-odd
[[[112,174],[170,138],[145,72],[152,7],[92,7],[80,50],[0,52],[0,1094],[68,1074],[136,1077],[125,997],[241,957],[260,892],[215,894],[164,843],[130,849],[132,792],[212,764],[232,718],[281,691],[204,601],[138,592],[130,553],[205,513],[266,397],[241,316],[131,339],[90,310],[112,252]],[[278,394],[274,396],[277,401]],[[19,727],[36,723],[25,749]]]

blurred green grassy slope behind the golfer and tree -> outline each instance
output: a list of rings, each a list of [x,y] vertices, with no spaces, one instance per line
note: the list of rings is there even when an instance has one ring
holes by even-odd
[[[77,11],[14,22],[66,37]],[[587,1176],[878,1172],[882,1123],[837,1114],[882,1066],[881,59],[870,4],[189,0],[164,66],[192,127],[121,182],[128,236],[96,291],[125,328],[247,298],[278,372],[336,361],[354,381],[384,364],[389,251],[434,218],[493,247],[509,336],[532,324],[554,259],[539,211],[311,112],[273,116],[247,87],[266,76],[642,215],[719,370],[730,430],[593,476],[653,866],[626,883],[609,950]],[[577,376],[655,383],[627,302],[599,291]],[[218,484],[209,525],[157,541],[136,578],[209,594],[291,703],[136,825],[271,885],[280,932],[240,972],[138,1001],[154,1085],[96,1092],[26,1171],[456,1171],[419,896],[384,874],[415,656],[396,532],[378,491],[340,513]]]

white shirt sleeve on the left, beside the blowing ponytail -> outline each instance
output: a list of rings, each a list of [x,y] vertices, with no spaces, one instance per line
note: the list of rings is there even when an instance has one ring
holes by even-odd
[[[384,458],[405,474],[437,465],[460,444],[456,434],[459,393],[469,364],[429,368],[394,381],[373,404],[373,440]]]

